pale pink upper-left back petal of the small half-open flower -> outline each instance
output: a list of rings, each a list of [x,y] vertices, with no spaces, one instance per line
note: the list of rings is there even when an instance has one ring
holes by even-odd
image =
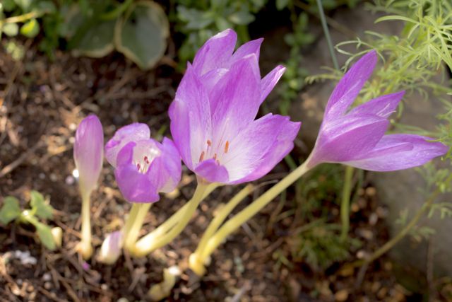
[[[150,129],[147,124],[133,123],[121,127],[114,133],[114,137],[105,145],[105,158],[110,165],[117,166],[118,152],[130,141],[149,139]]]

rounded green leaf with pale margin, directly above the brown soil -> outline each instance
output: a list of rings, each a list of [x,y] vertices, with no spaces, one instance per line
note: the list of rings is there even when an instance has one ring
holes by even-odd
[[[150,69],[167,48],[169,24],[165,11],[153,1],[138,1],[114,30],[117,50],[141,69]]]

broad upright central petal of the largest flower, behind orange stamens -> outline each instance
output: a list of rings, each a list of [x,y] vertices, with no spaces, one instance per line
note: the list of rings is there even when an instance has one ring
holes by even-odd
[[[260,105],[260,81],[254,54],[237,61],[220,79],[210,98],[214,141],[225,135],[232,139],[254,120]]]

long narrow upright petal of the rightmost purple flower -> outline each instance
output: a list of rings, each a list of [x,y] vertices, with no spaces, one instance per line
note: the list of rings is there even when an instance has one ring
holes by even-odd
[[[376,52],[371,51],[353,64],[352,68],[340,79],[326,105],[323,120],[330,120],[344,115],[369,79],[376,65]]]

